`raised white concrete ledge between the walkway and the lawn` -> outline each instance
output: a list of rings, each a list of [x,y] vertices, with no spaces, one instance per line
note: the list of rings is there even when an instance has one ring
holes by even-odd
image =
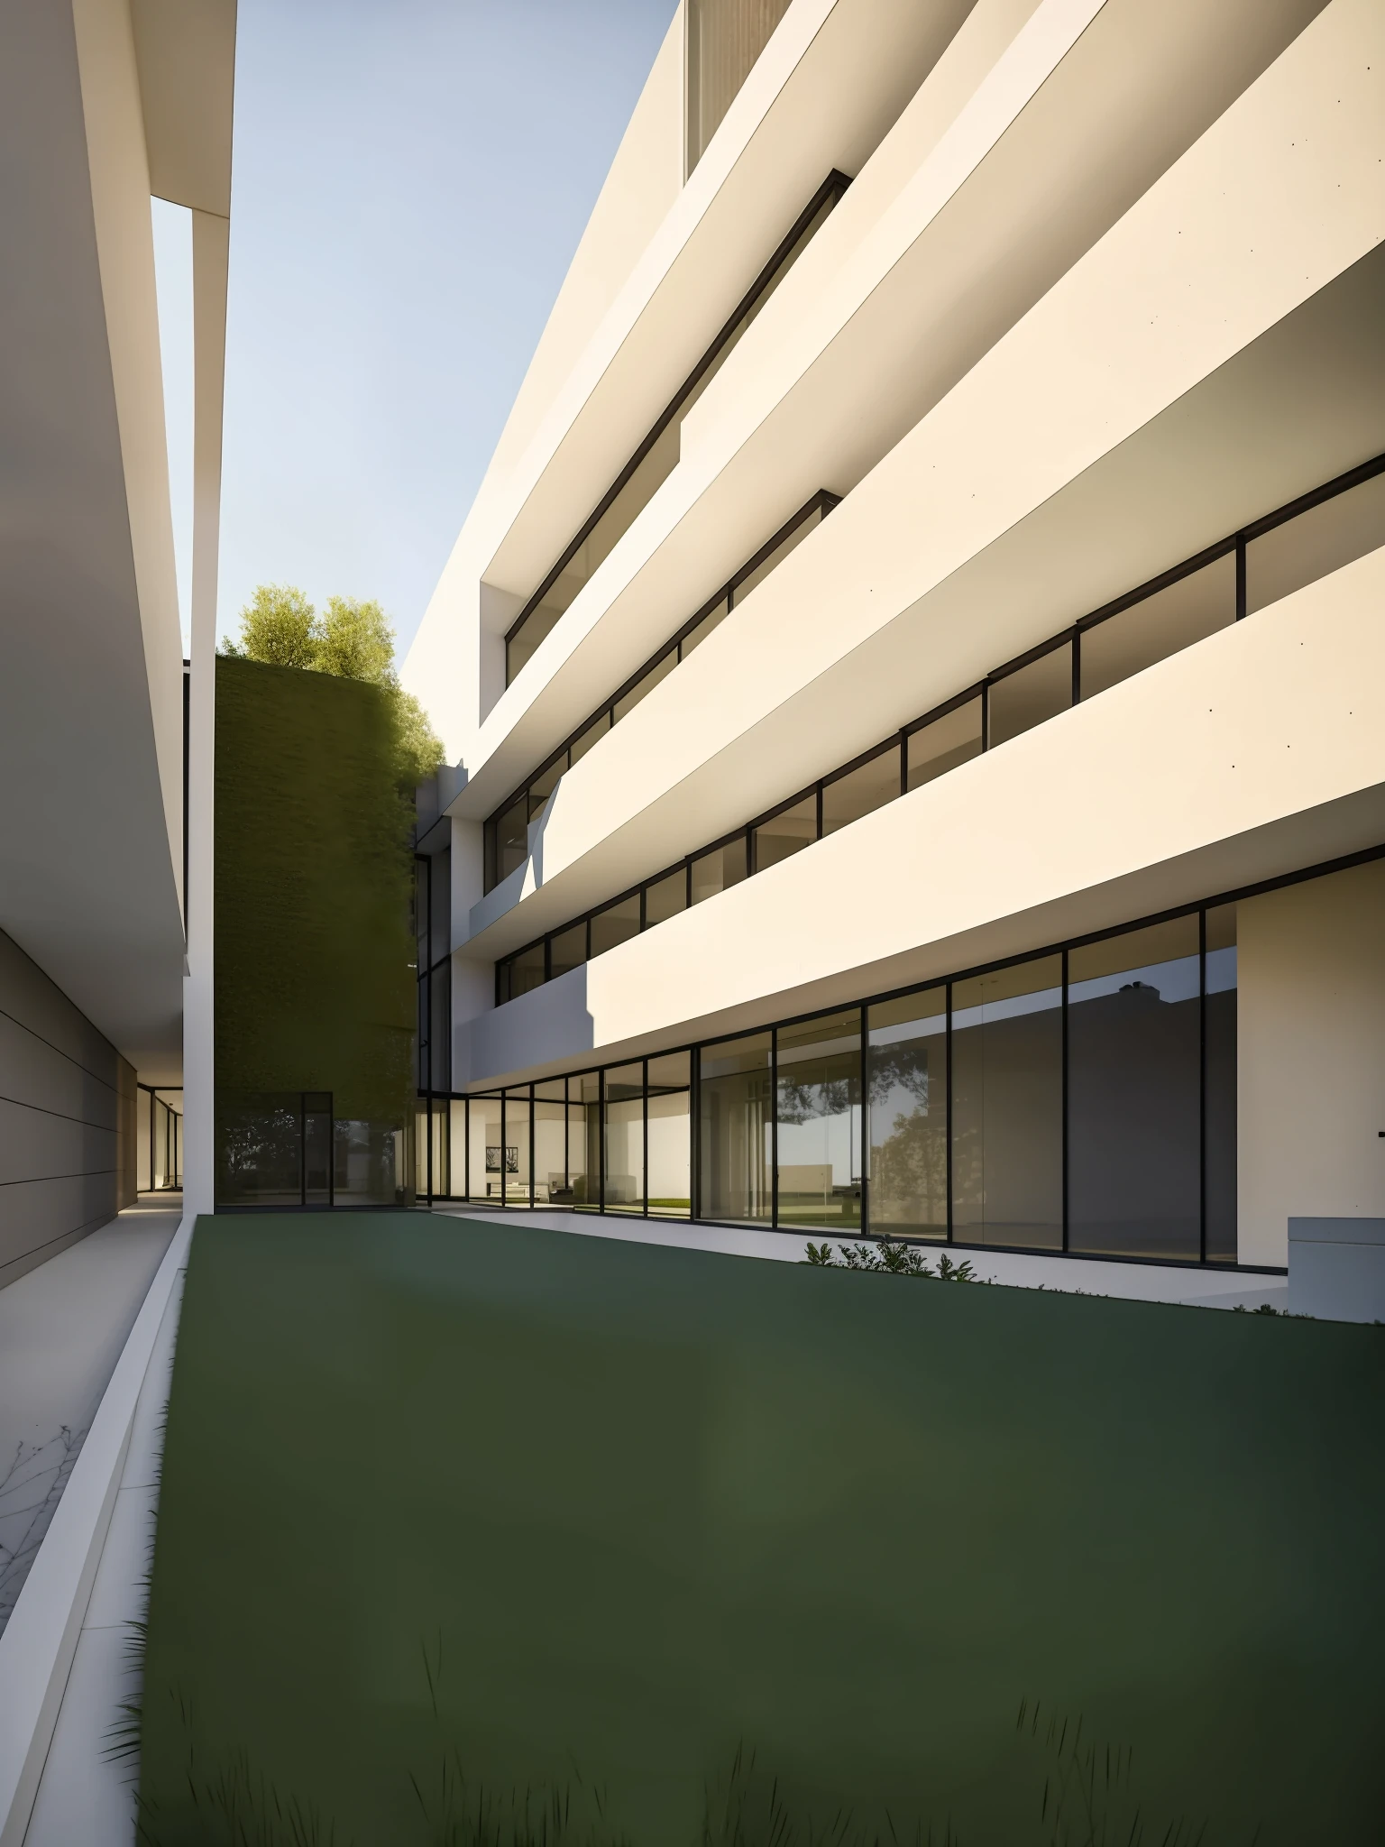
[[[0,1636],[0,1847],[22,1847],[129,1450],[135,1406],[192,1219],[174,1234],[33,1570]]]

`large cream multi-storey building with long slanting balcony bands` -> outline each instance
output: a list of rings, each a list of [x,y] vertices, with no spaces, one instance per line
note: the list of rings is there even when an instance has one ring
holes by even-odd
[[[683,0],[404,672],[419,1191],[1385,1215],[1383,235],[1374,0]]]

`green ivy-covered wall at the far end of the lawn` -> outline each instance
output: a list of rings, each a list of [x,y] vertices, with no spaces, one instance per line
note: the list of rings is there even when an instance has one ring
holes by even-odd
[[[264,1097],[331,1092],[338,1121],[408,1121],[410,820],[379,687],[218,659],[222,1154]]]

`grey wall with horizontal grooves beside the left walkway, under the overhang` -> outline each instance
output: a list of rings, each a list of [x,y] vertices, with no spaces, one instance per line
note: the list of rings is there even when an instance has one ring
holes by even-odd
[[[131,1066],[0,931],[0,1286],[133,1201],[133,1105]]]

